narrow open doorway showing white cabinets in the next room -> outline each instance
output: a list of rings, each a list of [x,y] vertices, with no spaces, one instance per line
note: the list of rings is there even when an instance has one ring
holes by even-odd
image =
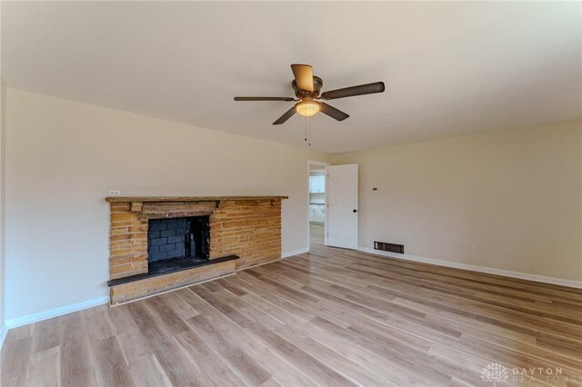
[[[307,234],[310,248],[326,243],[326,166],[326,163],[321,162],[307,163],[309,175]]]

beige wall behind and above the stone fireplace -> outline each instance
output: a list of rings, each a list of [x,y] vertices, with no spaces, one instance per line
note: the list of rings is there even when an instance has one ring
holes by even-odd
[[[288,195],[283,252],[307,248],[306,148],[7,89],[6,319],[107,294],[109,190]]]

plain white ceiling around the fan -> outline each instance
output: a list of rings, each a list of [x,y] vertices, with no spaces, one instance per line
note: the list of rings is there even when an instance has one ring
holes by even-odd
[[[312,147],[361,150],[582,116],[580,2],[3,2],[5,84],[137,114],[303,144],[289,65],[331,101]]]

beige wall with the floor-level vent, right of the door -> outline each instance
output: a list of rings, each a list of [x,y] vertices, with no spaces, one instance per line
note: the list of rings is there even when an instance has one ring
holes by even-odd
[[[332,163],[360,164],[363,247],[403,243],[420,257],[582,281],[581,122],[337,154]]]

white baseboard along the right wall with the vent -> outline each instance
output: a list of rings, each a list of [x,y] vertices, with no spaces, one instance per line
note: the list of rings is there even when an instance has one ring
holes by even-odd
[[[369,248],[369,247],[360,246],[357,249],[361,252],[364,252],[364,253],[371,253],[371,254],[380,255],[380,256],[387,256],[390,258],[396,258],[396,259],[401,259],[401,260],[405,260],[405,261],[430,263],[430,264],[436,264],[438,266],[445,266],[445,267],[453,267],[456,269],[470,270],[472,272],[497,274],[497,275],[503,275],[504,277],[519,278],[521,280],[534,281],[537,283],[551,283],[553,285],[560,285],[560,286],[567,286],[570,288],[582,289],[582,282],[580,282],[580,281],[564,280],[561,278],[546,277],[544,275],[537,275],[537,274],[512,272],[510,270],[494,269],[492,267],[477,266],[475,264],[444,261],[444,260],[435,259],[435,258],[420,257],[417,255],[387,253],[387,252],[374,250],[374,249]]]

